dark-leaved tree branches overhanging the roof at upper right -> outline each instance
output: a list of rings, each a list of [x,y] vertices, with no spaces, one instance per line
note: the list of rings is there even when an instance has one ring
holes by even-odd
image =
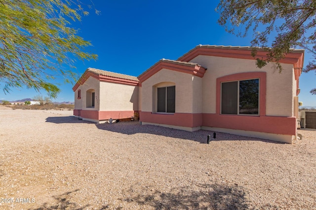
[[[278,61],[290,48],[304,48],[314,55],[314,60],[303,71],[316,70],[316,0],[221,0],[216,10],[220,13],[218,23],[226,31],[245,36],[253,30],[252,56],[255,57],[258,47],[267,51],[267,58],[257,59],[257,67],[274,61],[281,71]],[[268,47],[275,32],[276,37]],[[316,94],[316,89],[311,93]]]

